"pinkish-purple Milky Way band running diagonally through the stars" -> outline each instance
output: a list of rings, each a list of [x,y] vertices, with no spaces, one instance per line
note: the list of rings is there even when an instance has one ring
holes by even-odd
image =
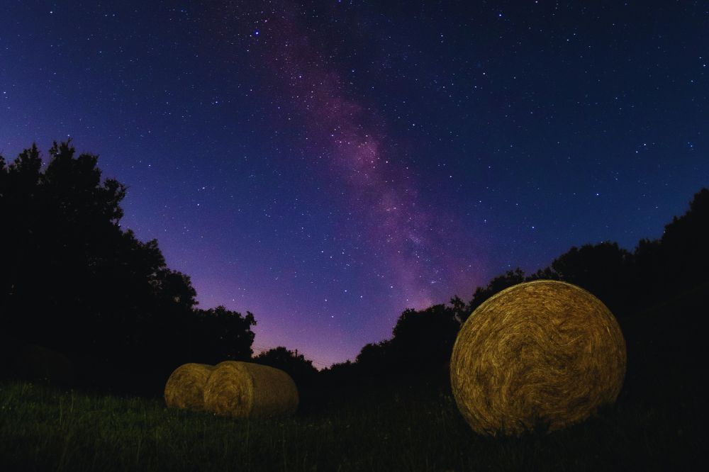
[[[404,308],[467,295],[484,271],[474,232],[420,197],[420,176],[401,159],[386,121],[350,98],[342,73],[330,64],[326,47],[313,44],[298,13],[287,2],[271,4],[269,11],[225,4],[215,14],[218,37],[258,51],[252,67],[274,86],[274,103],[284,103],[271,113],[288,115],[286,127],[298,122],[294,145],[323,181],[323,198],[336,198],[352,215],[340,225],[340,237],[362,241],[352,260],[370,265],[364,276],[391,300],[384,305],[389,313],[376,316],[393,323]]]

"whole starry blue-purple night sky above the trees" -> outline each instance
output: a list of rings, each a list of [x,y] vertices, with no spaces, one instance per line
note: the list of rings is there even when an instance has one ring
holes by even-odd
[[[652,6],[651,6],[652,5]],[[709,186],[705,1],[0,1],[0,153],[72,137],[199,307],[318,367]]]

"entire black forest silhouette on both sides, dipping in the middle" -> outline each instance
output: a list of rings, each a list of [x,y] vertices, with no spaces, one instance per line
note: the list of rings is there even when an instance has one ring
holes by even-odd
[[[534,274],[495,277],[469,300],[404,310],[391,339],[317,371],[286,347],[254,356],[254,314],[196,308],[189,276],[167,267],[157,240],[140,242],[121,227],[126,188],[101,180],[96,155],[77,157],[70,141],[49,154],[44,170],[36,145],[11,163],[0,157],[4,378],[160,395],[177,366],[232,359],[290,373],[306,407],[370,386],[437,394],[450,388],[447,362],[462,322],[498,291],[535,279],[574,283],[608,305],[628,344],[628,388],[652,382],[647,366],[691,366],[700,354],[691,327],[706,315],[709,293],[706,188],[659,239],[640,240],[632,252],[615,242],[571,247]]]

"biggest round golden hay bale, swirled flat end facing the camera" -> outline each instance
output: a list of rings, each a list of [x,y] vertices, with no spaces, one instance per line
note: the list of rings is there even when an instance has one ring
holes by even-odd
[[[532,281],[470,315],[450,364],[456,403],[474,431],[550,432],[615,401],[625,339],[613,313],[583,288]]]

